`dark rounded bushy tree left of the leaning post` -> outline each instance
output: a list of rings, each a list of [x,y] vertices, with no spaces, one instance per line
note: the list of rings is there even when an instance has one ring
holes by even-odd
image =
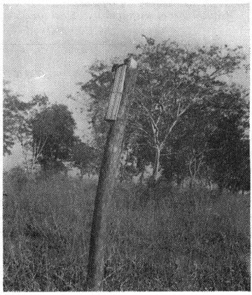
[[[57,160],[69,160],[76,142],[76,123],[64,104],[52,104],[35,114],[30,120],[32,150],[39,152],[38,161],[45,172]]]

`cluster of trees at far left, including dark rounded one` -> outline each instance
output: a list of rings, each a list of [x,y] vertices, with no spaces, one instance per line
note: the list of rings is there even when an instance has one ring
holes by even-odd
[[[69,158],[77,139],[73,135],[76,123],[71,112],[63,104],[50,106],[46,95],[35,95],[31,101],[22,102],[20,95],[12,95],[6,85],[4,83],[3,88],[3,153],[10,153],[18,140],[27,172],[32,174],[38,162],[44,170],[64,169],[58,160]]]

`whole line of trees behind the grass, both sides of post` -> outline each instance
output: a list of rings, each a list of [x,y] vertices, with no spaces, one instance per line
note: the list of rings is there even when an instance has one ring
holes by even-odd
[[[139,63],[134,103],[124,141],[120,179],[150,172],[148,186],[160,179],[189,185],[217,184],[220,191],[250,189],[248,89],[228,83],[247,69],[242,48],[186,48],[146,38],[137,46]],[[97,173],[108,125],[104,116],[113,74],[111,64],[96,62],[91,78],[80,83],[90,98],[92,144],[74,135],[76,123],[62,104],[45,95],[21,102],[3,89],[3,152],[19,140],[27,171],[38,163],[45,174],[78,167],[81,177]]]

